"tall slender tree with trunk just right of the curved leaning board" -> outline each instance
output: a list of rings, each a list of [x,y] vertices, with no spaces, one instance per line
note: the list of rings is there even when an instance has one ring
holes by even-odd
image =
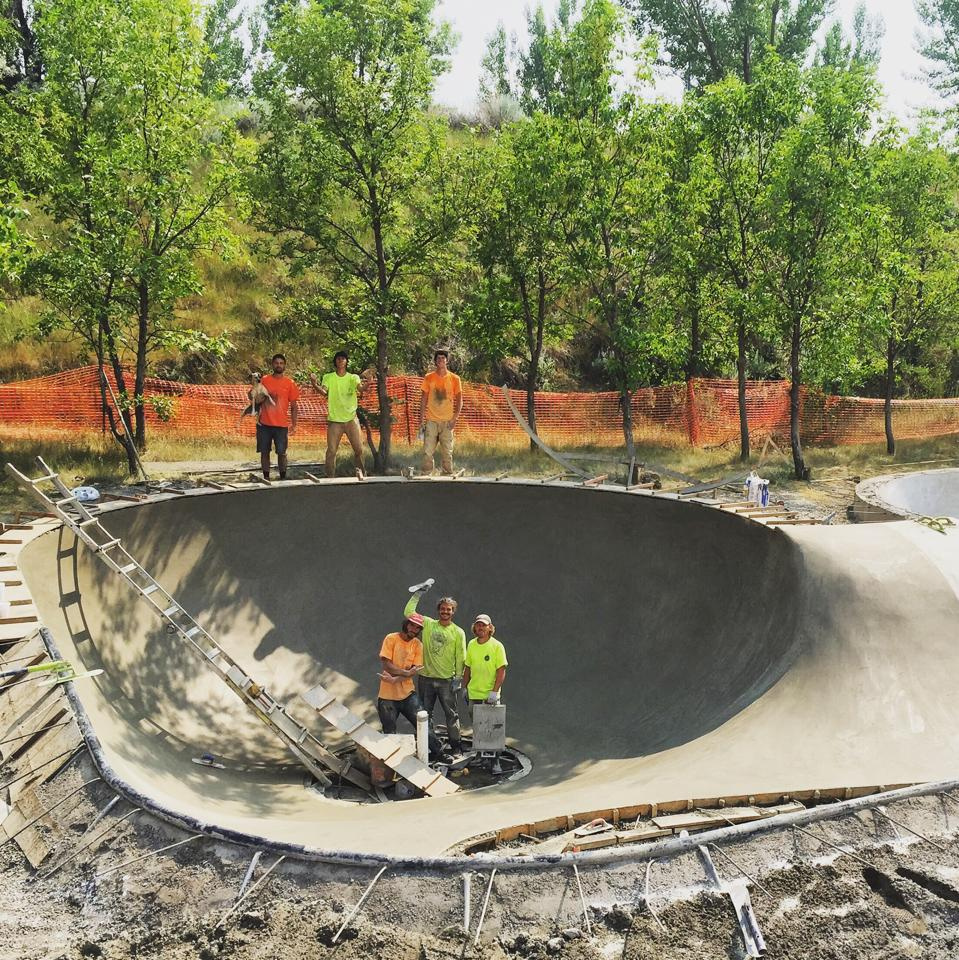
[[[672,108],[644,99],[648,73],[622,78],[615,52],[624,24],[608,0],[589,0],[561,52],[554,112],[562,133],[565,257],[582,287],[581,320],[601,338],[620,393],[623,436],[635,453],[632,396],[675,348],[661,324],[658,284],[666,250]]]

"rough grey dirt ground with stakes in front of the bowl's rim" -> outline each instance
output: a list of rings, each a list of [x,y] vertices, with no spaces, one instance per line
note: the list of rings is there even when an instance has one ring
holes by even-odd
[[[55,802],[91,775],[84,755],[43,788],[42,799]],[[276,861],[264,851],[249,897],[234,907],[254,851],[203,838],[129,863],[187,835],[144,813],[118,824],[130,809],[125,800],[85,833],[111,797],[97,784],[82,791],[75,805],[62,807],[55,821],[42,822],[39,831],[52,852],[38,870],[16,844],[0,848],[2,960],[745,956],[730,902],[707,889],[695,853],[654,863],[648,901],[645,861],[616,868],[584,865],[588,929],[568,868],[497,873],[478,943],[488,868],[464,861],[464,872],[473,868],[469,936],[463,931],[461,874],[387,871],[334,942],[374,870],[288,860],[257,886]],[[959,806],[948,809],[935,798],[897,804],[896,819],[928,840],[869,811],[810,828],[832,843],[849,844],[854,856],[792,832],[724,847],[726,856],[713,851],[713,860],[724,879],[739,870],[752,878],[753,906],[770,958],[954,957],[957,813]],[[65,862],[108,828],[102,842]]]

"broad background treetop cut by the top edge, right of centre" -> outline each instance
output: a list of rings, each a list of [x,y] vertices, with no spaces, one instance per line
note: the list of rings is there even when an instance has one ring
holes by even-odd
[[[620,0],[640,34],[662,38],[669,66],[687,87],[726,77],[752,81],[769,51],[801,64],[833,0]]]

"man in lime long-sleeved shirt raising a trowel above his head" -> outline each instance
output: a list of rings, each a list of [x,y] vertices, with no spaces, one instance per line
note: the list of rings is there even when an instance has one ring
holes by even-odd
[[[410,616],[422,597],[433,586],[432,580],[410,587],[409,603],[403,611]],[[423,669],[417,679],[423,709],[433,721],[433,710],[439,700],[446,717],[446,735],[453,754],[462,753],[460,715],[456,695],[462,689],[463,660],[466,656],[466,634],[453,623],[456,601],[441,597],[436,605],[436,619],[423,617]]]

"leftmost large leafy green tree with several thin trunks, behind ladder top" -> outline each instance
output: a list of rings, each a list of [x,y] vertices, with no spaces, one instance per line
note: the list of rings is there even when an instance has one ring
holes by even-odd
[[[190,0],[44,0],[37,36],[44,82],[3,104],[23,130],[23,179],[47,214],[27,278],[51,308],[41,329],[66,325],[111,365],[143,449],[148,359],[195,336],[175,306],[197,290],[197,252],[224,239],[239,144],[200,92]],[[134,449],[103,400],[132,472]]]

